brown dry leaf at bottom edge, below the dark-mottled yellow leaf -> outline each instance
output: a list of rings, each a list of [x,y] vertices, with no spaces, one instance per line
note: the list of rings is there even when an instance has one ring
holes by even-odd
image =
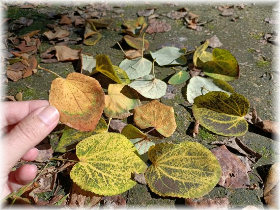
[[[186,198],[185,204],[192,209],[227,210],[229,200],[227,196],[221,198]]]

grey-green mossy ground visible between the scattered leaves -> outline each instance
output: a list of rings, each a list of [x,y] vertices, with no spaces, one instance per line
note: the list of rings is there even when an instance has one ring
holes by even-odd
[[[235,4],[237,6],[238,4]],[[181,21],[170,20],[168,17],[160,16],[160,20],[165,20],[172,26],[168,32],[157,34],[146,34],[145,38],[149,41],[151,52],[163,43],[177,43],[187,48],[198,47],[200,43],[213,35],[216,35],[223,43],[221,48],[227,49],[232,53],[240,65],[240,78],[228,82],[237,93],[240,93],[248,98],[250,106],[255,106],[260,118],[277,121],[277,103],[276,96],[279,94],[278,75],[276,70],[277,58],[279,57],[277,45],[266,43],[262,44],[261,40],[264,34],[272,33],[276,29],[276,25],[268,24],[264,21],[265,18],[275,18],[276,12],[273,11],[275,4],[252,4],[245,3],[244,9],[235,9],[234,17],[239,19],[234,22],[232,16],[224,17],[214,4],[183,4],[176,6],[167,4],[134,4],[126,3],[121,7],[124,10],[125,18],[136,18],[137,12],[144,8],[157,7],[155,13],[168,13],[170,10],[176,10],[181,7],[187,7],[193,13],[199,15],[201,21],[211,21],[202,27],[201,31],[192,30],[183,25]],[[51,8],[47,8],[51,9]],[[55,11],[63,11],[65,7],[55,7]],[[108,16],[115,15],[113,11],[107,12]],[[47,23],[55,23],[56,19],[48,19],[44,14],[38,14],[37,8],[34,9],[19,9],[18,7],[9,7],[7,14],[9,18],[19,18],[22,16],[31,17],[34,23],[29,27],[23,27],[15,34],[24,34],[26,32],[41,29],[41,33],[47,30],[44,26]],[[82,44],[70,46],[72,49],[83,48],[83,53],[107,54],[112,60],[112,64],[118,65],[123,59],[123,53],[117,47],[116,42],[122,39],[121,32],[116,32],[113,28],[120,28],[122,23],[121,18],[115,18],[111,29],[103,29],[101,31],[103,37],[95,46],[84,46]],[[72,37],[80,36],[81,29],[74,30]],[[51,47],[46,41],[40,48],[40,53],[43,53]],[[147,58],[150,58],[148,52],[145,53]],[[37,57],[39,59],[39,57]],[[262,62],[266,61],[266,62]],[[247,64],[244,65],[244,63]],[[74,71],[71,62],[58,64],[41,64],[42,67],[55,71],[62,77]],[[157,79],[168,81],[174,73],[170,67],[155,66]],[[271,73],[273,79],[268,77],[261,78],[265,73]],[[50,73],[39,71],[36,75],[26,79],[21,79],[17,82],[8,81],[5,85],[4,95],[15,95],[18,92],[23,92],[23,100],[45,99],[48,100],[50,85],[56,77]],[[102,78],[97,76],[97,78]],[[222,140],[226,137],[218,136],[206,129],[200,128],[203,132],[198,134],[196,138],[192,137],[190,130],[194,125],[191,105],[186,99],[187,83],[175,85],[176,94],[173,99],[161,99],[165,105],[174,107],[177,129],[170,137],[158,142],[173,142],[180,143],[182,141],[196,141],[202,143],[207,148],[211,149],[215,146],[208,143],[215,140]],[[129,120],[129,119],[128,119]],[[209,140],[210,139],[210,140]],[[268,134],[256,130],[252,126],[249,131],[240,139],[247,144],[252,150],[263,155],[258,162],[253,165],[253,172],[259,174],[263,179],[266,176],[270,165],[276,162],[278,143]],[[205,197],[222,197],[228,196],[230,208],[244,207],[248,205],[263,208],[262,184],[255,174],[250,174],[250,184],[257,183],[259,189],[226,189],[216,186]],[[146,185],[137,184],[132,189],[122,194],[127,199],[127,207],[147,207],[149,206],[164,206],[165,208],[174,209],[180,205],[184,205],[182,198],[165,198],[152,193]]]

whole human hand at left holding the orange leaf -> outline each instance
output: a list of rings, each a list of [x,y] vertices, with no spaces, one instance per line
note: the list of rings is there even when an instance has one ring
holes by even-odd
[[[33,100],[1,103],[1,199],[36,177],[37,167],[25,164],[16,171],[12,167],[19,159],[33,161],[38,150],[34,148],[57,125],[59,113],[48,101]]]

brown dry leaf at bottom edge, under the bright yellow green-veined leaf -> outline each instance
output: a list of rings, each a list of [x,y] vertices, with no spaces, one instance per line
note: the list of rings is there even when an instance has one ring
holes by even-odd
[[[93,192],[85,191],[81,189],[81,187],[79,187],[76,183],[73,183],[67,205],[71,209],[93,208],[99,204],[102,197],[102,195],[97,195]]]

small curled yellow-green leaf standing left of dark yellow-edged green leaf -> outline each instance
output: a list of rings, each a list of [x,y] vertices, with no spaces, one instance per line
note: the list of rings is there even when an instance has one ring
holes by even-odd
[[[204,42],[203,45],[200,45],[196,49],[196,52],[194,53],[194,56],[193,56],[194,65],[196,67],[202,67],[201,62],[203,63],[203,62],[212,60],[212,53],[205,51],[208,48],[208,45],[209,45],[209,41],[206,41],[206,42]],[[199,58],[198,61],[197,61],[197,58]]]

